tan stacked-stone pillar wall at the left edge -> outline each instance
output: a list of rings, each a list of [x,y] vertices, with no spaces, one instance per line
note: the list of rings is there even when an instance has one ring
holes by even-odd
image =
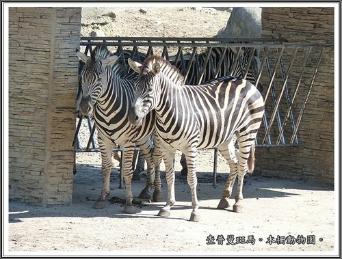
[[[70,204],[81,8],[9,8],[9,195]]]

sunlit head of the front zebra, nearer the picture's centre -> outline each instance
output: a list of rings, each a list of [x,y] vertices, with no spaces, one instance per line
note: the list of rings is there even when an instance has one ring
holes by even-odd
[[[159,100],[160,92],[156,87],[157,76],[161,70],[159,62],[148,62],[153,56],[145,59],[144,64],[133,62],[128,59],[129,66],[137,73],[139,77],[135,82],[135,96],[129,109],[129,122],[133,125],[142,124],[142,119],[155,107]]]

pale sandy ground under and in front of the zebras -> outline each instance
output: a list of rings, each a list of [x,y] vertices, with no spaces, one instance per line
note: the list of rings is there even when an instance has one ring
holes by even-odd
[[[210,150],[202,152],[200,160],[204,168],[209,165]],[[122,213],[118,198],[124,199],[124,189],[118,189],[118,167],[111,176],[110,197],[115,197],[116,202],[109,200],[103,210],[92,208],[101,192],[101,165],[78,164],[72,206],[42,208],[10,203],[9,250],[14,254],[24,251],[25,255],[29,255],[27,251],[44,251],[48,255],[94,252],[95,256],[152,255],[152,252],[165,255],[163,251],[168,251],[176,255],[191,252],[226,256],[235,252],[240,256],[295,252],[300,256],[311,251],[326,255],[337,249],[334,191],[303,181],[249,176],[244,185],[244,212],[233,213],[231,207],[218,210],[216,206],[226,179],[222,164],[218,167],[216,187],[212,185],[211,173],[207,170],[198,173],[200,222],[189,221],[191,195],[179,172],[176,172],[176,205],[170,217],[161,218],[157,213],[165,202],[135,205],[134,215]],[[164,176],[162,181],[166,197]],[[134,195],[140,193],[144,182],[144,178],[133,182]],[[234,204],[233,199],[230,204]],[[208,245],[211,236],[215,244]],[[224,238],[222,245],[220,236]],[[235,245],[227,245],[227,238],[233,238]],[[281,238],[285,238],[285,243],[281,243]],[[287,243],[291,238],[293,243]]]

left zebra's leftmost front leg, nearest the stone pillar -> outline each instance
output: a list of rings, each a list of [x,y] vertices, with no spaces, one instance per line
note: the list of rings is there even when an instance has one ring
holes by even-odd
[[[113,150],[113,145],[104,143],[100,136],[98,136],[98,145],[101,150],[101,160],[102,160],[102,177],[103,185],[100,197],[96,200],[93,208],[105,208],[107,203],[107,198],[109,196],[109,178],[111,174],[111,152]]]

